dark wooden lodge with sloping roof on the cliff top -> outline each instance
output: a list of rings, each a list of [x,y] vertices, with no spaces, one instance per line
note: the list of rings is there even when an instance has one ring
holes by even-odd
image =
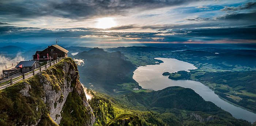
[[[47,58],[48,54],[48,58]],[[39,60],[38,61],[48,61],[48,60],[56,60],[60,57],[68,57],[68,50],[64,49],[63,47],[59,45],[51,45],[48,46],[48,48],[42,50],[42,51],[36,51],[33,55],[33,60]]]

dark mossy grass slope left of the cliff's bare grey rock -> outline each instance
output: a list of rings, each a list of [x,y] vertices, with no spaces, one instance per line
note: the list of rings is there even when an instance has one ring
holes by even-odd
[[[22,96],[19,91],[25,88],[25,84],[31,85],[30,97]],[[38,119],[44,117],[45,123],[53,123],[49,119],[46,104],[41,99],[43,97],[42,84],[39,83],[38,76],[20,81],[11,87],[0,91],[0,125],[31,125],[36,124]],[[38,108],[38,111],[36,111]]]

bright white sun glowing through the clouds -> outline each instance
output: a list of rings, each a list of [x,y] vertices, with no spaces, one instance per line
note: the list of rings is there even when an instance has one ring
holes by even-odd
[[[116,21],[114,18],[99,18],[97,20],[96,28],[111,28],[117,26]]]

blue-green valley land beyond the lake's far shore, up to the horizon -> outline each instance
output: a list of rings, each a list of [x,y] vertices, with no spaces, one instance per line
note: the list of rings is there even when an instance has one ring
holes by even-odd
[[[254,111],[255,93],[253,92],[255,86],[253,85],[255,84],[256,51],[254,49],[231,50],[216,46],[213,48],[207,45],[192,46],[174,46],[168,48],[133,46],[118,47],[110,50],[121,51],[128,57],[127,60],[133,62],[136,66],[160,64],[162,61],[154,59],[155,57],[175,58],[189,62],[196,66],[197,69],[190,70],[190,79],[184,77],[183,79],[200,81],[214,90],[222,98],[250,111]],[[174,80],[181,79],[175,76],[180,76],[180,74],[174,74],[173,77],[170,76],[169,78]],[[216,78],[210,79],[209,76]],[[204,80],[200,80],[198,77],[204,78]],[[226,78],[228,81],[222,81],[221,78]]]

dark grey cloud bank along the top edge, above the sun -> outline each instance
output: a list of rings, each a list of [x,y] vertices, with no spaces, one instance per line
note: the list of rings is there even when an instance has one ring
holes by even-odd
[[[125,15],[127,9],[153,9],[199,0],[1,0],[1,15],[18,17],[61,16],[85,18],[95,15]]]

